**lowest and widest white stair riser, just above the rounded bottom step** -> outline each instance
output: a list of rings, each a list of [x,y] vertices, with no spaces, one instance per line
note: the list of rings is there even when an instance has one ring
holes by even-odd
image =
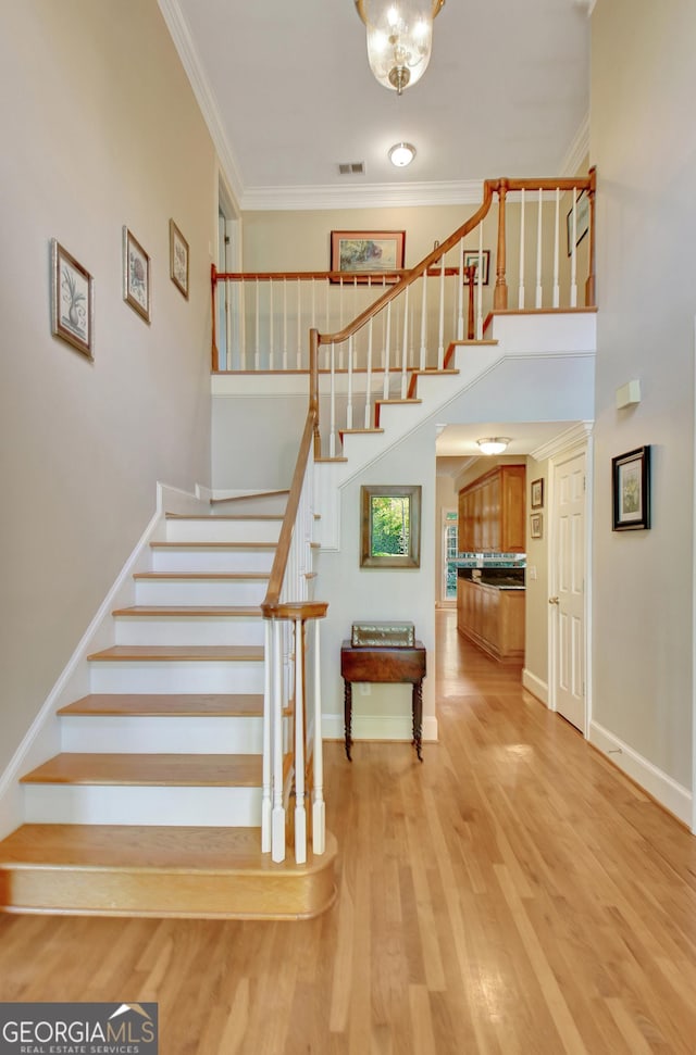
[[[25,784],[25,824],[195,825],[253,828],[260,788]]]

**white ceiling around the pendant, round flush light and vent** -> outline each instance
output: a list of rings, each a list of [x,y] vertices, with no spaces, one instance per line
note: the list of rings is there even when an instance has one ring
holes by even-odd
[[[480,200],[486,177],[586,152],[592,0],[447,0],[401,97],[370,72],[353,0],[159,3],[243,209]],[[408,169],[387,159],[400,140]]]

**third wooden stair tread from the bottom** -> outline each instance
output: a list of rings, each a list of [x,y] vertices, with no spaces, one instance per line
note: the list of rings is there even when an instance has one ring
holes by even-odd
[[[61,707],[61,715],[137,717],[256,717],[261,693],[95,692]]]

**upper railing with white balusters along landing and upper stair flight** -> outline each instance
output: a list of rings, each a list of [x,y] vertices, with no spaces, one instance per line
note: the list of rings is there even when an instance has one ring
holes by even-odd
[[[372,427],[376,400],[406,399],[415,372],[446,368],[494,312],[595,306],[595,171],[485,180],[476,212],[409,271],[213,267],[212,294],[214,372],[310,372],[314,342],[310,399],[334,456],[341,430]]]

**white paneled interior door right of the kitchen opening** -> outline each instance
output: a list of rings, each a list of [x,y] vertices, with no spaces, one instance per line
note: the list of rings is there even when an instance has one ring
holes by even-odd
[[[586,732],[585,452],[554,467],[554,705]]]

